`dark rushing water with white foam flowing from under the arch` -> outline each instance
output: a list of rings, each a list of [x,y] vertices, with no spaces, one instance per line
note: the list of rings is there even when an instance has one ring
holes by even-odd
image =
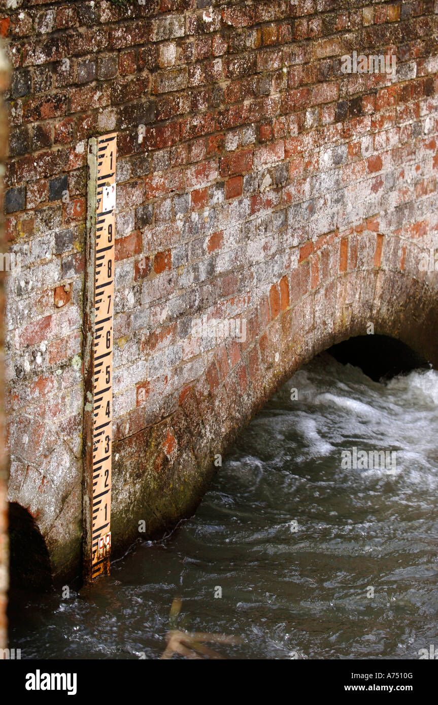
[[[180,596],[178,627],[241,637],[212,645],[227,658],[438,649],[437,439],[437,372],[379,384],[322,356],[243,432],[195,516],[69,599],[26,599],[10,646],[22,658],[159,658]],[[395,450],[396,472],[343,469],[353,446]]]

